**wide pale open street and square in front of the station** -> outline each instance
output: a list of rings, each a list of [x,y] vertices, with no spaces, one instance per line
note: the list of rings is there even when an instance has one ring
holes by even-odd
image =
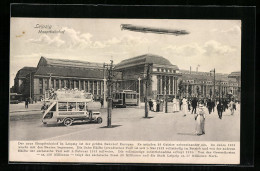
[[[34,107],[32,107],[34,105]],[[127,107],[112,110],[112,128],[106,128],[107,112],[101,109],[103,122],[75,123],[70,127],[42,124],[42,114],[36,104],[32,110],[22,110],[21,104],[10,105],[10,140],[119,140],[119,141],[239,141],[240,110],[230,115],[223,113],[220,120],[215,110],[206,114],[205,135],[195,135],[194,115],[183,112],[164,113],[149,111],[144,118],[144,108]],[[40,104],[38,104],[40,106]],[[15,110],[15,108],[18,108]],[[20,109],[21,108],[21,109]]]

